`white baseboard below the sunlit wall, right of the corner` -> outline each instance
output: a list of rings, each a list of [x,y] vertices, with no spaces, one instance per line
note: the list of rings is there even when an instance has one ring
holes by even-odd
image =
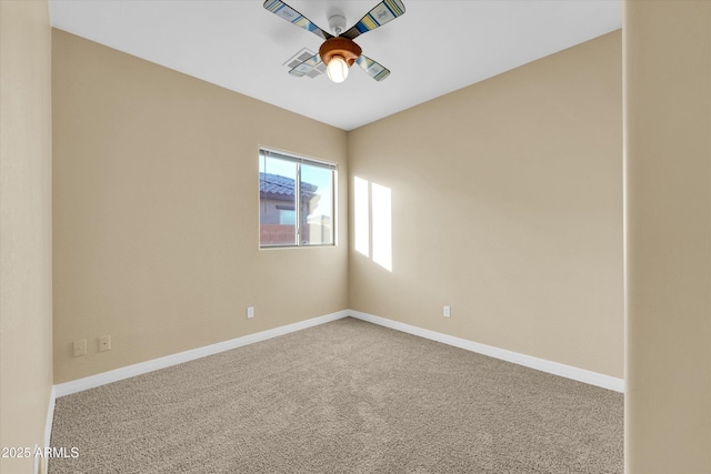
[[[441,342],[454,347],[475,352],[478,354],[488,355],[490,357],[500,359],[502,361],[512,362],[525,367],[535,369],[537,371],[548,372],[565,379],[595,385],[602,389],[612,390],[614,392],[624,393],[624,380],[597,372],[587,371],[584,369],[573,367],[571,365],[560,364],[558,362],[547,361],[544,359],[533,357],[531,355],[519,354],[518,352],[507,351],[504,349],[493,347],[491,345],[480,344],[461,337],[442,334],[435,331],[424,330],[398,321],[388,320],[385,317],[374,316],[372,314],[362,313],[360,311],[349,311],[349,314],[356,319],[367,321],[369,323],[402,331],[420,337]]]

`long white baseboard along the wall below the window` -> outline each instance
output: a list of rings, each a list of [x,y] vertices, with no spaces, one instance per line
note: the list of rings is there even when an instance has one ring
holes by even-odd
[[[152,361],[146,361],[146,362],[141,362],[133,365],[128,365],[126,367],[116,369],[113,371],[103,372],[103,373],[91,375],[83,379],[78,379],[71,382],[60,383],[54,385],[56,395],[57,397],[71,395],[72,393],[82,392],[84,390],[93,389],[108,383],[118,382],[123,379],[129,379],[129,377],[141,375],[148,372],[153,372],[159,369],[166,369],[171,365],[182,364],[183,362],[194,361],[196,359],[206,357],[208,355],[213,355],[220,352],[230,351],[232,349],[241,347],[243,345],[249,345],[256,342],[266,341],[268,339],[289,334],[294,331],[300,331],[307,327],[312,327],[319,324],[340,320],[341,317],[346,317],[349,314],[350,314],[349,311],[343,310],[343,311],[327,314],[323,316],[300,321],[298,323],[288,324],[286,326],[274,327],[273,330],[262,331],[254,334],[248,334],[246,336],[232,339],[230,341],[223,341],[217,344],[206,345],[203,347],[179,352],[177,354],[167,355],[160,359],[153,359]]]

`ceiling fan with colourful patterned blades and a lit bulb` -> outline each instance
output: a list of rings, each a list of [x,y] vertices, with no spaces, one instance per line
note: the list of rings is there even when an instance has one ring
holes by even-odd
[[[404,4],[401,0],[382,0],[349,30],[346,30],[346,18],[341,13],[331,14],[329,27],[336,36],[323,31],[281,0],[266,0],[264,9],[324,40],[317,54],[289,71],[291,75],[303,77],[313,69],[322,68],[323,63],[331,81],[343,82],[348,78],[348,70],[353,65],[353,62],[377,81],[382,81],[390,75],[387,68],[363,56],[361,48],[356,44],[353,39],[403,14]]]

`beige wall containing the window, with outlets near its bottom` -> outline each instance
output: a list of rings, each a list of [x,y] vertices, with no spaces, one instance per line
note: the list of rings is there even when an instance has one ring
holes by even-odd
[[[56,383],[347,307],[344,131],[59,30],[53,68]],[[260,145],[338,163],[338,246],[259,250]]]

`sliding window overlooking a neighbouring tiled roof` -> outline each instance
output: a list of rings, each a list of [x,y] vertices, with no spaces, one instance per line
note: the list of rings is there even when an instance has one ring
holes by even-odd
[[[259,150],[260,246],[333,245],[334,183],[336,164]]]

